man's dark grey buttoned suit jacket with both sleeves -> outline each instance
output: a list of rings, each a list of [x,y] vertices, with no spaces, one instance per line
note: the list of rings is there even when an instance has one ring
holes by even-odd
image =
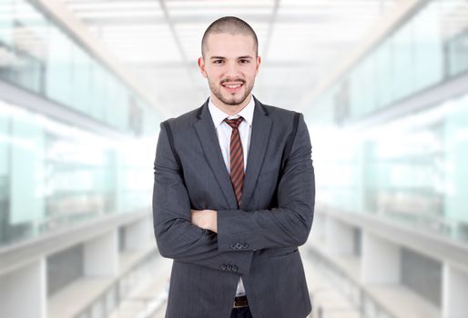
[[[315,185],[310,137],[302,114],[255,97],[243,200],[219,149],[208,100],[164,123],[153,191],[156,241],[174,259],[168,318],[229,318],[239,275],[254,318],[305,318],[310,297],[298,246],[312,224]],[[171,148],[172,142],[173,148]],[[190,209],[218,211],[218,234],[190,224]]]

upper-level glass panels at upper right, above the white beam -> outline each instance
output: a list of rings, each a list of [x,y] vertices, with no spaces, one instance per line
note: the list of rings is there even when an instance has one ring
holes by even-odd
[[[425,2],[311,101],[314,117],[345,124],[465,74],[467,10],[464,0]]]

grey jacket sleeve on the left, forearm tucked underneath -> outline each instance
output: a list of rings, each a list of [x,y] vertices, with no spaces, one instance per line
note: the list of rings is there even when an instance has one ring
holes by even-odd
[[[159,253],[179,262],[233,273],[248,273],[252,253],[220,251],[218,235],[190,222],[190,201],[164,124],[154,165],[153,223]]]

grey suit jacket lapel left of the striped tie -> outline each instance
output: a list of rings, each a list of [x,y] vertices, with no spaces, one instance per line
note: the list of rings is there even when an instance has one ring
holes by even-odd
[[[229,208],[237,209],[236,195],[232,189],[230,176],[226,169],[226,164],[224,164],[221,149],[219,148],[218,136],[211,114],[209,114],[208,102],[209,100],[198,109],[198,121],[195,123],[195,129],[207,161],[209,162],[209,167],[213,171],[213,174],[215,174]]]

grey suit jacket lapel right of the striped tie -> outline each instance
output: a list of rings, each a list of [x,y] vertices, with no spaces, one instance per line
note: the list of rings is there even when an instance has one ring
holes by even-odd
[[[247,156],[247,169],[242,192],[240,209],[245,209],[253,193],[263,159],[270,139],[271,119],[268,111],[253,95],[255,110],[252,120],[252,134],[250,136],[249,155]]]

